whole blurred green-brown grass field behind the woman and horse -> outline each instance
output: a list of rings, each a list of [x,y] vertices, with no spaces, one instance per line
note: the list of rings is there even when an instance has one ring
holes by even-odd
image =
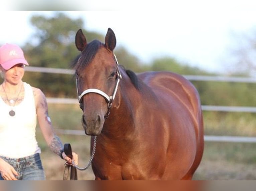
[[[54,128],[83,130],[82,111],[78,105],[49,104],[49,115]],[[255,114],[204,112],[206,135],[256,136]],[[38,127],[37,127],[38,128]],[[46,145],[40,130],[37,140],[47,180],[62,180],[64,161]],[[63,143],[71,143],[79,154],[79,166],[90,159],[90,136],[58,134]],[[194,180],[256,180],[256,143],[205,142],[202,162]],[[91,167],[78,171],[79,180],[93,180]]]

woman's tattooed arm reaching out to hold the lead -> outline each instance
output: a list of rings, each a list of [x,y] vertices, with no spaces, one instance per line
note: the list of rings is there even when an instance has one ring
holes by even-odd
[[[72,160],[64,152],[61,152],[63,145],[59,137],[53,131],[51,119],[48,115],[48,106],[45,95],[40,89],[37,88],[33,88],[33,94],[35,98],[38,123],[48,146],[55,154],[67,160],[68,163],[72,163]],[[78,156],[76,153],[73,153],[73,159],[75,164],[77,164]]]

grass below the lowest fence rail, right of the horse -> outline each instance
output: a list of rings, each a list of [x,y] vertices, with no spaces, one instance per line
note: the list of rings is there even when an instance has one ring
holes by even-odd
[[[256,180],[256,143],[206,142],[194,180]]]

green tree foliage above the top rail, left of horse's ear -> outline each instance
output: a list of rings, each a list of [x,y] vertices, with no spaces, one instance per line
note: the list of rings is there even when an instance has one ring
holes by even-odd
[[[29,63],[40,67],[69,68],[70,62],[78,55],[74,39],[76,31],[83,25],[82,19],[72,20],[57,12],[52,18],[34,16],[31,24],[36,29],[34,39],[24,47]],[[38,44],[33,45],[33,40]]]

